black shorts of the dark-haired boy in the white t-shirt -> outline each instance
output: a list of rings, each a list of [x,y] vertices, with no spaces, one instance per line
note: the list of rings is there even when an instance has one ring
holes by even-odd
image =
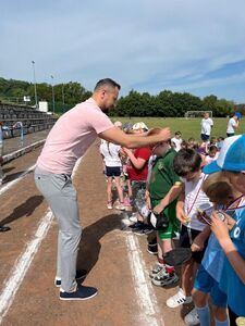
[[[192,235],[192,243],[193,243],[193,240],[201,233],[197,229],[193,229],[191,228],[191,235]],[[180,235],[180,247],[182,248],[191,248],[192,246],[191,243],[191,239],[189,239],[189,235],[188,235],[188,229],[185,225],[182,225],[181,227],[181,235]],[[204,250],[201,251],[196,251],[196,252],[193,252],[193,259],[196,263],[200,264],[203,258],[204,258],[204,253],[205,253],[205,250],[207,248],[207,244],[208,244],[208,239],[205,241],[205,247],[204,247]]]

